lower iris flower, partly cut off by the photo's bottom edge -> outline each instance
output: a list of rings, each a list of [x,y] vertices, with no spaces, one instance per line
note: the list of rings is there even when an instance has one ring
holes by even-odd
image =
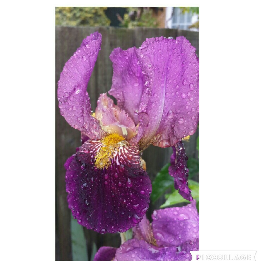
[[[198,251],[199,218],[196,202],[183,207],[155,210],[152,223],[146,219],[133,228],[134,237],[120,248],[101,247],[94,261],[191,260]]]

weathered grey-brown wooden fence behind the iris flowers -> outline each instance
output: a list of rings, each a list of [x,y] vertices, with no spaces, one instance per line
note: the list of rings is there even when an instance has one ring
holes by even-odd
[[[66,61],[73,55],[80,46],[81,41],[92,32],[99,31],[102,34],[102,50],[99,52],[92,76],[88,84],[88,93],[92,109],[95,110],[96,102],[100,93],[108,92],[111,88],[113,75],[112,62],[109,55],[114,48],[121,47],[126,50],[129,47],[139,47],[146,38],[152,37],[174,37],[183,35],[193,46],[196,53],[199,53],[198,32],[164,29],[164,28],[113,28],[113,27],[56,27],[56,72],[55,72],[55,99],[56,99],[56,260],[75,260],[72,254],[71,235],[71,211],[68,209],[65,191],[65,170],[64,162],[75,153],[75,148],[81,145],[80,132],[70,127],[64,117],[60,115],[57,101],[57,81]],[[191,137],[190,142],[185,144],[186,154],[189,157],[196,157],[196,138],[198,131]],[[143,153],[147,163],[147,172],[154,179],[157,172],[170,160],[171,148],[159,148],[150,146]],[[156,204],[151,204],[147,211],[147,217],[151,217],[153,209],[159,208],[164,198]],[[78,227],[79,226],[79,227]],[[93,246],[97,249],[101,246],[119,247],[119,234],[101,235],[94,231],[83,228],[77,224],[77,237],[82,234],[81,244],[87,247],[87,259]],[[94,244],[95,243],[95,244]],[[73,251],[77,251],[73,250]],[[84,255],[83,255],[84,256]],[[78,258],[79,259],[79,258]],[[87,260],[86,259],[86,260]],[[82,260],[83,261],[83,260]]]

